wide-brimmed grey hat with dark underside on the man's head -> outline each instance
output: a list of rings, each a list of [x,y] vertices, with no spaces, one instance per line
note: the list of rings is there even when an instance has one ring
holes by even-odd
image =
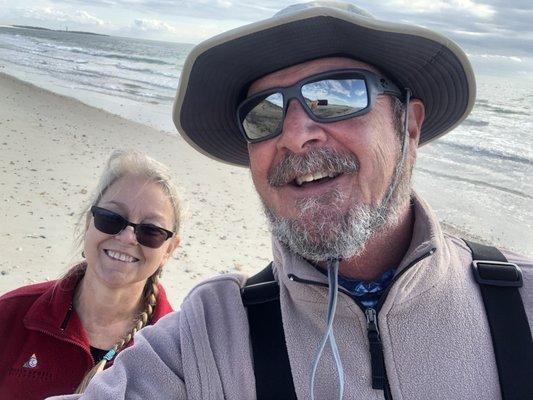
[[[201,153],[247,166],[236,109],[250,84],[274,71],[332,56],[371,64],[422,100],[426,116],[419,146],[455,128],[474,105],[472,67],[450,39],[418,26],[374,19],[347,3],[312,2],[197,45],[181,73],[174,124]]]

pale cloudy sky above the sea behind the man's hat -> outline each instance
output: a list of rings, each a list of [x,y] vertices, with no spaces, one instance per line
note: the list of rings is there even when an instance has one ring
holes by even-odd
[[[0,24],[83,30],[198,43],[268,18],[281,0],[0,0]],[[458,42],[478,72],[528,79],[533,73],[532,0],[352,1],[374,17],[414,23]]]

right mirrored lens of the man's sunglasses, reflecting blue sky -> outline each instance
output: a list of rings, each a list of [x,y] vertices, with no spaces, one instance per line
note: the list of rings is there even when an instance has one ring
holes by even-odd
[[[302,86],[302,96],[318,118],[337,118],[368,107],[364,79],[326,79]]]

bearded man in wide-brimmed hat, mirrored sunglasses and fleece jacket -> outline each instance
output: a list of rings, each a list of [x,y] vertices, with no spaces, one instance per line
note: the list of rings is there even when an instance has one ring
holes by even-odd
[[[454,43],[344,3],[292,6],[197,46],[174,121],[200,152],[250,167],[273,233],[280,361],[261,364],[256,334],[268,346],[276,321],[257,330],[246,295],[264,284],[241,291],[245,277],[219,276],[136,336],[83,398],[527,398],[499,383],[469,247],[411,191],[417,147],[474,98]],[[533,265],[505,255],[523,273],[530,339]],[[265,384],[263,371],[279,379]]]

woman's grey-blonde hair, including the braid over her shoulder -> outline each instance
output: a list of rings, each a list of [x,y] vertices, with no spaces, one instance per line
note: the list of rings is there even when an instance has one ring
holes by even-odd
[[[127,175],[140,176],[161,186],[165,194],[168,196],[174,211],[172,230],[175,233],[178,233],[180,227],[181,207],[178,197],[178,188],[173,182],[168,168],[153,158],[148,157],[146,154],[131,150],[117,150],[114,151],[109,157],[96,189],[94,190],[93,195],[91,196],[90,201],[87,203],[83,213],[80,215],[76,229],[76,242],[78,247],[81,248],[83,245],[85,233],[87,232],[88,228],[87,221],[90,219],[91,207],[98,205],[106,190],[113,183]],[[86,263],[79,264],[77,267],[73,268],[73,270],[69,271],[69,274],[74,273],[82,275],[85,273],[86,267]],[[158,268],[158,270],[147,279],[143,291],[143,312],[141,312],[135,319],[132,329],[126,335],[124,335],[122,339],[115,343],[113,348],[108,353],[109,357],[106,355],[106,358],[96,363],[96,365],[87,372],[78,386],[76,393],[83,393],[94,375],[102,371],[106,363],[113,359],[114,355],[119,353],[130,342],[130,340],[133,338],[133,335],[150,322],[159,293],[158,284],[160,276],[161,268]],[[109,358],[109,360],[107,358]]]

